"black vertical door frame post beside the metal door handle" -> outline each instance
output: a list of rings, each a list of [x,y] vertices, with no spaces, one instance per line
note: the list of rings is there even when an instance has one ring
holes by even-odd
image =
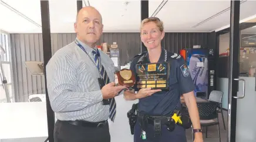
[[[240,1],[231,1],[230,6],[230,56],[228,74],[228,141],[235,141],[237,122],[237,96],[238,82],[234,81],[239,77],[238,57],[240,46]],[[232,118],[232,119],[231,119]]]

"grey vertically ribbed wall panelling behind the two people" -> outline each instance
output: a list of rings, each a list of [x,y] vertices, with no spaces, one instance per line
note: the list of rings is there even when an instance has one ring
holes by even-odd
[[[166,33],[162,46],[172,52],[193,45],[207,47],[208,33]],[[71,43],[75,33],[52,33],[52,55],[61,47]],[[103,33],[97,42],[113,44],[117,42],[120,50],[120,64],[141,52],[140,33]],[[32,76],[26,69],[25,61],[43,61],[43,44],[41,33],[11,34],[12,67],[14,70],[14,92],[16,102],[28,102],[28,96],[36,93],[45,93],[45,80],[42,76]]]

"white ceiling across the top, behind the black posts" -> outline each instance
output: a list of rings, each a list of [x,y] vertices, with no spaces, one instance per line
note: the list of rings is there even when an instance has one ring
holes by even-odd
[[[104,32],[139,32],[139,0],[93,0],[89,2],[102,14]],[[149,16],[160,4],[165,3],[162,2],[149,1]],[[11,8],[6,8],[8,5]],[[83,6],[85,6],[84,3]],[[256,1],[242,1],[240,20],[255,18],[255,7]],[[166,32],[211,32],[229,26],[230,9],[228,8],[230,8],[230,1],[169,0],[156,16],[163,20]],[[1,15],[0,29],[6,32],[42,32],[40,0],[2,0],[0,12],[4,13]],[[49,12],[51,33],[74,33],[76,0],[49,0]],[[216,15],[220,12],[221,14]],[[25,15],[26,18],[20,15]],[[201,24],[198,24],[200,22]]]

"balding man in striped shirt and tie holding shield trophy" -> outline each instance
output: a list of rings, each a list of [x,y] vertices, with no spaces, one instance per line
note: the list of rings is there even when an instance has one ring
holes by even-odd
[[[76,40],[46,65],[50,105],[58,119],[54,139],[110,142],[107,119],[113,121],[116,115],[113,98],[126,87],[115,86],[113,61],[96,48],[103,32],[100,13],[93,7],[82,8],[74,27]]]

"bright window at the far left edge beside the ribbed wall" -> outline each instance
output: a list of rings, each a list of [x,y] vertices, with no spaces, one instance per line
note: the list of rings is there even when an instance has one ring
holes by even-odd
[[[0,103],[7,102],[6,88],[8,88],[8,95],[11,102],[14,102],[13,83],[12,83],[12,66],[11,66],[11,48],[9,44],[9,34],[2,31],[0,32],[0,45],[5,53],[1,53],[0,57]],[[4,73],[4,74],[3,74]],[[4,78],[7,81],[6,88],[2,84]]]

